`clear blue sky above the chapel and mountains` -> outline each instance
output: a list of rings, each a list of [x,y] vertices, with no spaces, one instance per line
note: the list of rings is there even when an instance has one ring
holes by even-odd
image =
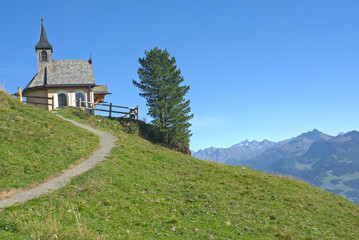
[[[44,17],[53,58],[92,53],[106,100],[140,118],[138,58],[167,48],[191,87],[193,150],[336,135],[359,130],[358,13],[357,0],[2,0],[0,82],[16,92],[35,75]]]

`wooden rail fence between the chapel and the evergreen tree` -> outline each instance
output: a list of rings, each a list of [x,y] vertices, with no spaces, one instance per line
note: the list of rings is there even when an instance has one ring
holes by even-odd
[[[139,117],[139,107],[124,107],[124,106],[116,106],[112,103],[97,103],[95,106],[91,102],[82,101],[81,99],[77,99],[77,107],[83,108],[83,109],[89,109],[91,111],[100,111],[100,112],[108,112],[109,117],[113,117],[113,114],[124,114],[121,117],[128,117],[137,119]],[[102,108],[99,108],[102,107]],[[105,109],[104,109],[105,108]],[[107,109],[106,109],[107,108]],[[119,110],[118,110],[119,109]],[[128,109],[128,111],[121,110],[121,109]]]

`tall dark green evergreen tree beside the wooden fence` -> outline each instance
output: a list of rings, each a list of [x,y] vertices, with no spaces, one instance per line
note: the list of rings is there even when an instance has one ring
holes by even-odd
[[[170,57],[167,49],[155,47],[145,51],[145,57],[139,58],[137,71],[140,81],[133,84],[146,98],[152,124],[159,130],[162,143],[166,146],[190,154],[189,130],[193,118],[190,101],[184,97],[189,86],[181,86],[184,81],[181,70],[176,66],[176,59]]]

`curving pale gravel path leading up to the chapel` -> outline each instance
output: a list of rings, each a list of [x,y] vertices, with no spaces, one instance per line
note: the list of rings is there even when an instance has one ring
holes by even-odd
[[[47,182],[44,182],[40,184],[39,186],[36,186],[34,188],[24,190],[22,192],[19,192],[17,194],[14,194],[13,196],[0,200],[0,209],[4,207],[10,207],[20,202],[25,202],[30,199],[34,199],[37,197],[40,197],[41,195],[50,192],[55,189],[59,189],[63,186],[65,186],[70,180],[78,175],[81,175],[82,173],[90,170],[93,168],[96,164],[99,162],[102,162],[105,160],[105,157],[110,153],[112,147],[115,146],[116,138],[104,131],[96,130],[90,126],[75,122],[73,120],[64,118],[58,114],[56,114],[60,118],[72,122],[73,124],[82,127],[86,130],[89,130],[90,132],[93,132],[94,134],[100,136],[101,141],[101,148],[97,151],[95,151],[91,157],[77,165],[76,167],[66,170],[63,174],[60,176],[51,179]]]

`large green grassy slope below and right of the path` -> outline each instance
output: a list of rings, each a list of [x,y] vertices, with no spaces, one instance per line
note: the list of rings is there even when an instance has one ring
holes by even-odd
[[[0,212],[0,239],[355,239],[359,206],[303,182],[205,162],[126,134],[67,187]]]

